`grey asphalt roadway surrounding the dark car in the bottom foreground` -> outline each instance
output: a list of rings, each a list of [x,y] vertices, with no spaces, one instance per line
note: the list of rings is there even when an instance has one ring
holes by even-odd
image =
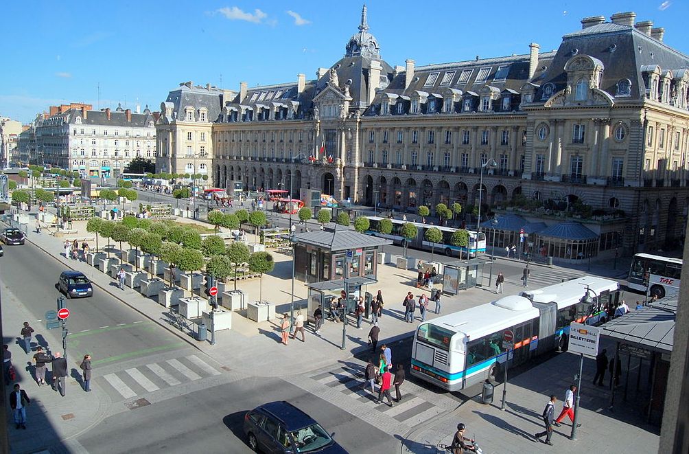
[[[399,452],[399,442],[337,406],[281,379],[245,379],[108,417],[78,438],[91,454],[251,453],[247,411],[287,400],[301,408],[351,454]],[[126,434],[126,436],[123,436]]]

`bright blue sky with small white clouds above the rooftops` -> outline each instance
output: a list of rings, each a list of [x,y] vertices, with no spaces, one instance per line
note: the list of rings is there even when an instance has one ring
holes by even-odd
[[[370,32],[391,66],[557,48],[586,16],[635,11],[689,53],[687,1],[368,1]],[[0,115],[31,121],[56,103],[160,108],[178,83],[238,90],[307,79],[345,53],[361,2],[35,1],[0,6]],[[609,20],[609,19],[608,19]]]

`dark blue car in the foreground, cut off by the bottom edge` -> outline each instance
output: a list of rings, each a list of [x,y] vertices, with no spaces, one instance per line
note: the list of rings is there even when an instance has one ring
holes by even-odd
[[[267,454],[347,454],[316,420],[285,401],[270,402],[248,411],[244,417],[244,433],[249,448]]]

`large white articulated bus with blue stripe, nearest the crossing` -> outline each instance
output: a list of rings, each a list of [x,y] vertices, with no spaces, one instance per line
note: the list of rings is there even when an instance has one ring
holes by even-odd
[[[593,293],[590,302],[582,302],[587,287]],[[604,322],[605,306],[618,301],[617,282],[584,276],[422,322],[411,375],[447,391],[501,377],[508,354],[512,366],[556,348],[564,351],[571,322]],[[506,330],[514,334],[509,353],[503,348]]]

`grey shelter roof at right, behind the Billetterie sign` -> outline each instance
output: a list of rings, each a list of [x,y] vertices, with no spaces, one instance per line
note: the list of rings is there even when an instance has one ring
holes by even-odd
[[[641,310],[631,310],[630,313],[601,325],[601,335],[670,353],[675,335],[678,299],[677,295],[672,295]]]

